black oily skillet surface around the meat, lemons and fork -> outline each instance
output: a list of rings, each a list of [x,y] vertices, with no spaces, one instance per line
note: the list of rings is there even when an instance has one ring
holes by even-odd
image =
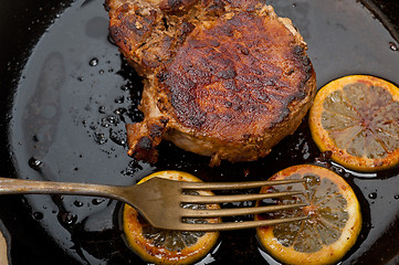
[[[270,1],[308,43],[317,85],[348,74],[399,84],[399,3]],[[258,162],[210,169],[209,158],[168,142],[150,166],[126,156],[125,123],[140,120],[140,80],[107,39],[102,1],[3,1],[0,9],[1,174],[21,179],[136,183],[156,170],[183,170],[204,181],[266,179],[316,163],[355,189],[364,229],[342,264],[399,264],[399,169],[361,174],[323,158],[307,121]],[[376,19],[379,18],[380,20]],[[2,195],[10,264],[144,264],[118,225],[120,204],[101,198]],[[279,264],[254,231],[222,233],[202,264]]]

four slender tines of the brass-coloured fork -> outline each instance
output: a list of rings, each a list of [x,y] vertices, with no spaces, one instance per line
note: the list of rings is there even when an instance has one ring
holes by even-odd
[[[273,180],[273,181],[252,181],[252,182],[213,182],[213,183],[196,183],[185,182],[183,190],[237,190],[237,189],[252,189],[269,186],[300,183],[304,180]],[[183,194],[181,201],[183,203],[195,204],[211,204],[211,203],[227,203],[240,201],[256,201],[271,198],[294,197],[302,194],[301,191],[284,191],[284,192],[270,192],[270,193],[255,193],[255,194],[229,194],[229,195],[193,195]],[[253,215],[265,212],[286,211],[297,208],[306,206],[306,203],[292,203],[292,204],[277,204],[277,205],[261,205],[251,208],[232,208],[232,209],[185,209],[181,216],[187,218],[225,218],[238,215]],[[284,218],[277,220],[259,220],[259,221],[244,221],[244,222],[230,222],[230,223],[208,223],[208,224],[183,224],[181,230],[189,229],[190,231],[220,231],[220,230],[239,230],[258,227],[265,225],[274,225],[285,222],[294,222],[307,219],[307,216]]]

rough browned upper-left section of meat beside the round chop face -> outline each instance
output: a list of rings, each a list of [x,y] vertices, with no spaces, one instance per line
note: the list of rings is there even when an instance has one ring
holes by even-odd
[[[196,24],[229,10],[256,10],[258,0],[106,0],[109,32],[143,76],[174,56]]]

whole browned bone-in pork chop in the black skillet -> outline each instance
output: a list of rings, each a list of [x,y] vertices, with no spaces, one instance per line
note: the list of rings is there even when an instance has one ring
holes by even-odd
[[[251,161],[292,134],[316,77],[291,20],[254,0],[107,0],[111,34],[144,77],[128,153],[155,162],[162,139]]]

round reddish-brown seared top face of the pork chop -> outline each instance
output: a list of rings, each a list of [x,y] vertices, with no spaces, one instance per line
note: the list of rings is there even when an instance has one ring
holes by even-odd
[[[161,73],[162,113],[199,137],[241,142],[283,121],[313,74],[279,20],[248,12],[197,28]]]

